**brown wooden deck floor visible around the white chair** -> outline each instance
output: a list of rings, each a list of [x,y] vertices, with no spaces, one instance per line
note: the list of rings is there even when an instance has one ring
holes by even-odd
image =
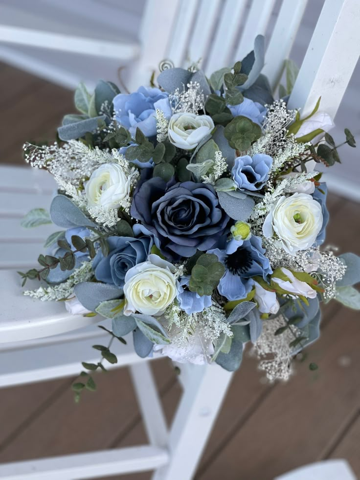
[[[24,140],[52,138],[72,93],[0,64],[0,161],[21,163]],[[330,195],[328,243],[360,254],[359,205]],[[360,477],[359,313],[324,308],[321,339],[287,384],[267,385],[245,356],[196,480],[270,480],[324,458],[346,458]],[[46,361],[46,359],[44,359]],[[154,362],[168,419],[180,397],[173,368]],[[0,462],[145,442],[126,369],[100,374],[98,392],[73,403],[71,379],[0,390]],[[114,478],[114,477],[112,477]],[[120,477],[118,477],[120,480]],[[121,479],[144,480],[150,474]],[[339,479],[341,480],[341,479]]]

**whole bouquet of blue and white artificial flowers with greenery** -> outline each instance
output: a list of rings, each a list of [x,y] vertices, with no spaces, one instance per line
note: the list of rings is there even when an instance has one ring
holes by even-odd
[[[318,338],[320,301],[360,308],[360,259],[320,247],[327,190],[308,168],[340,161],[332,120],[319,102],[306,118],[287,109],[291,62],[274,100],[263,43],[209,79],[192,66],[133,93],[79,86],[80,113],[65,116],[57,142],[24,146],[58,192],[49,214],[32,210],[23,225],[62,229],[41,268],[21,274],[42,281],[25,295],[111,319],[112,340],[132,333],[141,357],[233,371],[251,343],[270,381],[288,379],[293,356]],[[117,361],[94,347],[102,361],[83,364],[77,398],[95,389],[93,370]]]

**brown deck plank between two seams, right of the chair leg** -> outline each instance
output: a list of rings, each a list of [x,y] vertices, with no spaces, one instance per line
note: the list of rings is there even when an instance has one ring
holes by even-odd
[[[312,345],[296,376],[277,384],[198,479],[267,479],[315,461],[348,411],[359,405],[358,312],[345,309]],[[341,358],[351,363],[342,366]],[[310,372],[309,361],[319,365]],[[243,387],[243,388],[246,388]],[[241,403],[239,402],[239,409]]]

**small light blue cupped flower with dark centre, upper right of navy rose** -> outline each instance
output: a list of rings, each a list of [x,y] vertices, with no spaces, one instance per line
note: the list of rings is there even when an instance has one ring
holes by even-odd
[[[269,178],[272,158],[264,153],[257,153],[252,158],[249,155],[235,159],[231,174],[239,188],[260,190]]]

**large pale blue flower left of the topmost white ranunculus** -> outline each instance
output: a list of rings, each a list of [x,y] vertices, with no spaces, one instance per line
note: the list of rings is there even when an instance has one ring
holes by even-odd
[[[119,93],[113,100],[116,120],[135,136],[139,128],[145,137],[156,135],[156,109],[164,112],[170,119],[171,108],[169,94],[151,87],[140,87],[130,94]]]

